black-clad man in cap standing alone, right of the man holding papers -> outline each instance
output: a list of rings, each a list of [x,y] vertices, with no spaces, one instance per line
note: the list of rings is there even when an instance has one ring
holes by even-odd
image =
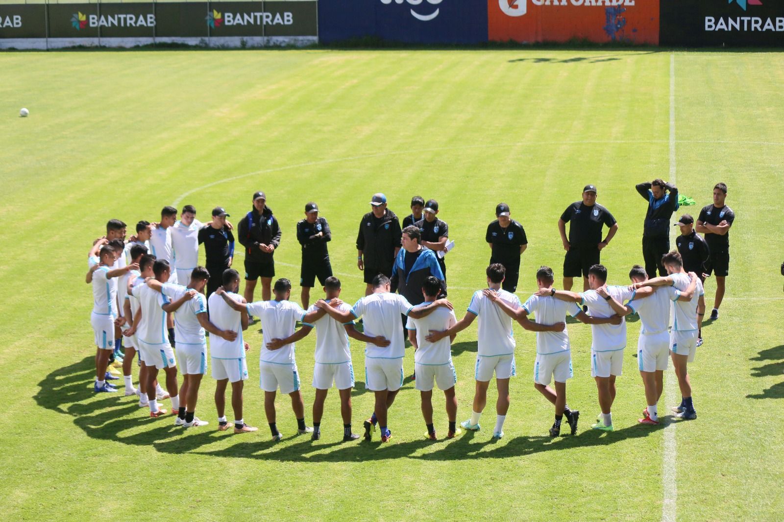
[[[490,245],[490,264],[500,263],[505,270],[503,289],[514,293],[520,277],[520,259],[528,248],[528,238],[520,223],[509,217],[509,205],[495,206],[495,221],[488,225],[485,241]]]

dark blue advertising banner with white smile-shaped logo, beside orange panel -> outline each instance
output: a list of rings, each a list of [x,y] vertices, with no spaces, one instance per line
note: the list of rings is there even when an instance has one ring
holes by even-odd
[[[319,0],[322,43],[376,37],[390,42],[488,41],[487,0]]]

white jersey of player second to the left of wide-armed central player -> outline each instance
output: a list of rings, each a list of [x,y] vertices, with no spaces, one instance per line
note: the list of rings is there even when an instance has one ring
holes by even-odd
[[[296,321],[303,321],[305,310],[297,303],[291,301],[256,301],[248,303],[248,313],[259,317],[263,335],[261,340],[261,350],[259,354],[260,362],[270,362],[278,364],[296,364],[294,343],[286,344],[278,350],[268,350],[267,343],[272,339],[285,339],[294,333]],[[303,324],[307,324],[303,322]],[[313,324],[307,324],[312,327]]]

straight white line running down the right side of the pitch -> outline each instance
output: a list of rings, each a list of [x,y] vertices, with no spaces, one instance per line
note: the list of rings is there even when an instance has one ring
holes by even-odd
[[[675,183],[675,54],[670,54],[670,183]],[[670,239],[674,236],[674,227],[670,227]],[[677,400],[677,386],[675,386],[675,369],[672,364],[667,365],[666,379],[664,382],[664,408],[675,404]],[[662,413],[667,414],[664,410]],[[663,418],[663,415],[662,415]],[[675,443],[675,422],[668,422],[664,426],[664,451],[662,453],[662,522],[675,522],[676,502],[678,488],[675,480],[675,460],[677,448]]]

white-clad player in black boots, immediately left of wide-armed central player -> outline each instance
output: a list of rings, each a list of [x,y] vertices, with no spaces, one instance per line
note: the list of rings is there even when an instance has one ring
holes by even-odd
[[[333,302],[337,310],[345,313],[351,311],[346,303],[336,304],[340,295],[340,280],[327,277],[324,284],[325,302]],[[320,310],[311,305],[307,313]],[[316,364],[313,369],[313,387],[316,398],[313,401],[313,436],[312,440],[321,438],[321,417],[324,415],[324,401],[334,382],[340,394],[340,415],[343,417],[343,441],[357,440],[359,435],[351,432],[351,389],[354,388],[354,366],[351,364],[351,349],[348,338],[373,343],[382,348],[390,345],[381,336],[369,337],[354,328],[354,321],[341,324],[328,315],[311,321],[316,328]]]

